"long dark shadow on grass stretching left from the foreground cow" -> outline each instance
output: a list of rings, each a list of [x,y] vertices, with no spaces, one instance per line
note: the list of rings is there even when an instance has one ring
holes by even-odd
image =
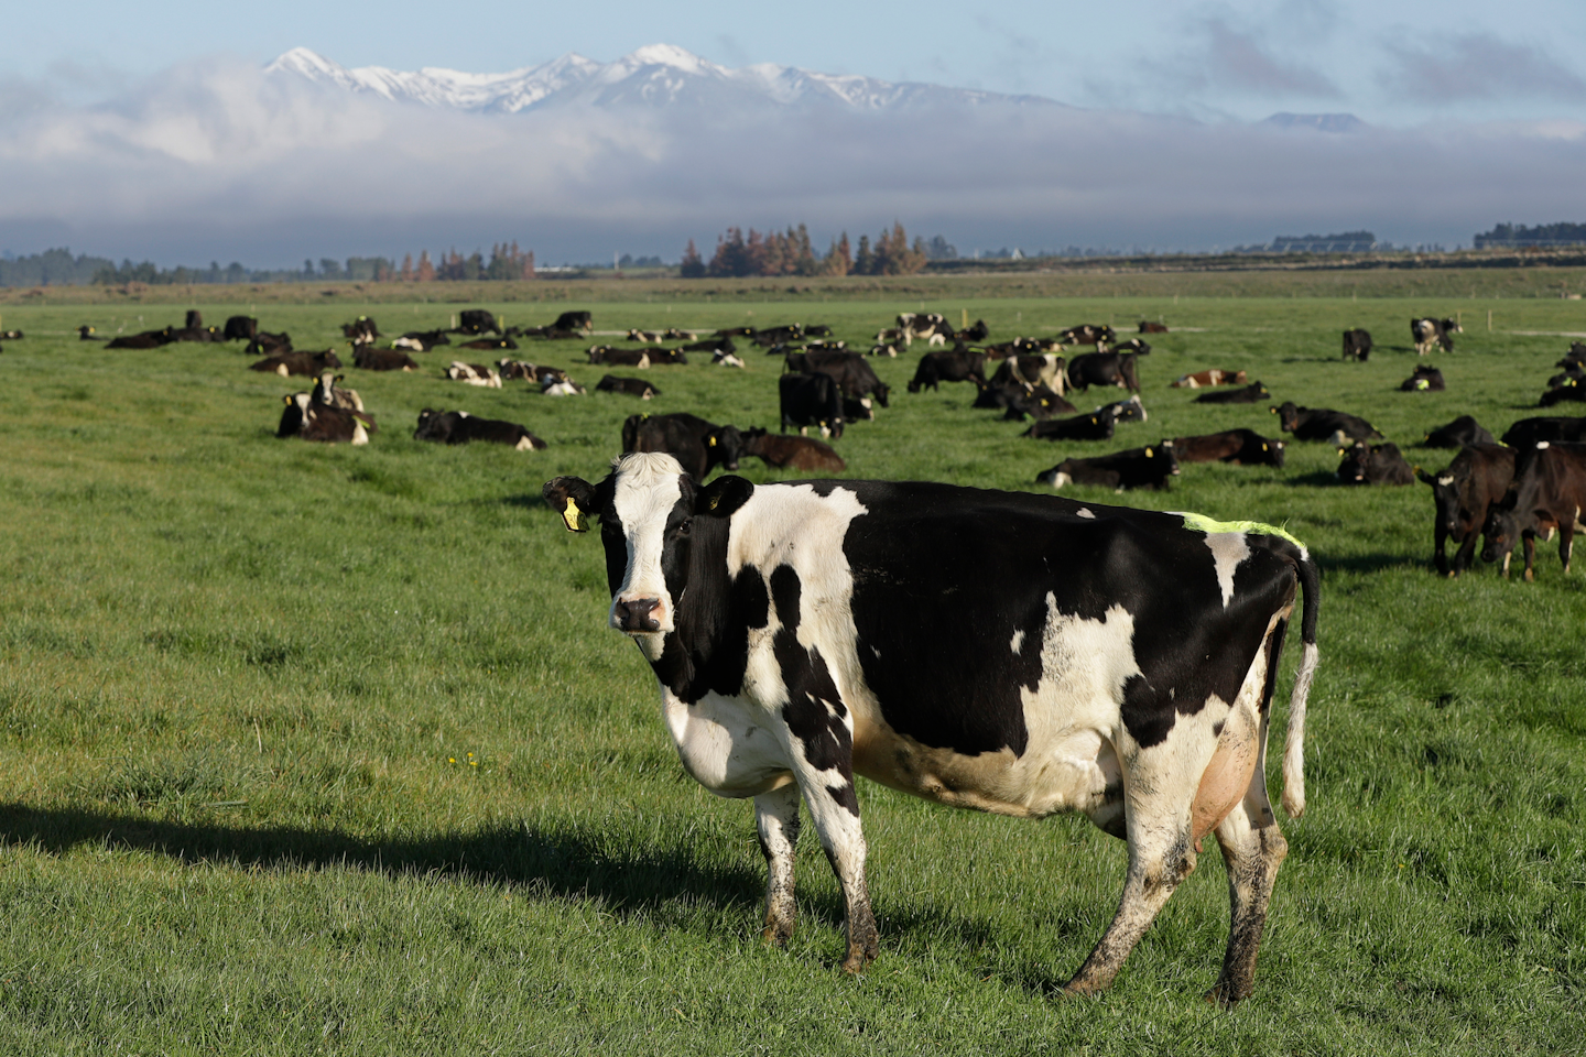
[[[333,829],[251,829],[6,803],[0,805],[0,843],[32,845],[54,854],[78,845],[98,845],[244,870],[351,865],[393,878],[436,873],[596,899],[615,913],[671,900],[752,910],[760,905],[764,884],[763,875],[749,868],[701,864],[685,840],[617,849],[619,841],[604,834],[585,834],[573,826],[498,826],[419,840],[370,841]]]

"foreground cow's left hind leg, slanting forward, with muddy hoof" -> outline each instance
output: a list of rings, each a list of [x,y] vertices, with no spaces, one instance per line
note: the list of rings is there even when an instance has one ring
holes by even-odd
[[[1194,789],[1186,789],[1185,796],[1164,796],[1172,783],[1174,775],[1166,769],[1163,773],[1136,772],[1126,777],[1129,875],[1112,924],[1074,978],[1063,986],[1071,995],[1093,995],[1112,984],[1167,897],[1194,870],[1190,826],[1190,796]]]

